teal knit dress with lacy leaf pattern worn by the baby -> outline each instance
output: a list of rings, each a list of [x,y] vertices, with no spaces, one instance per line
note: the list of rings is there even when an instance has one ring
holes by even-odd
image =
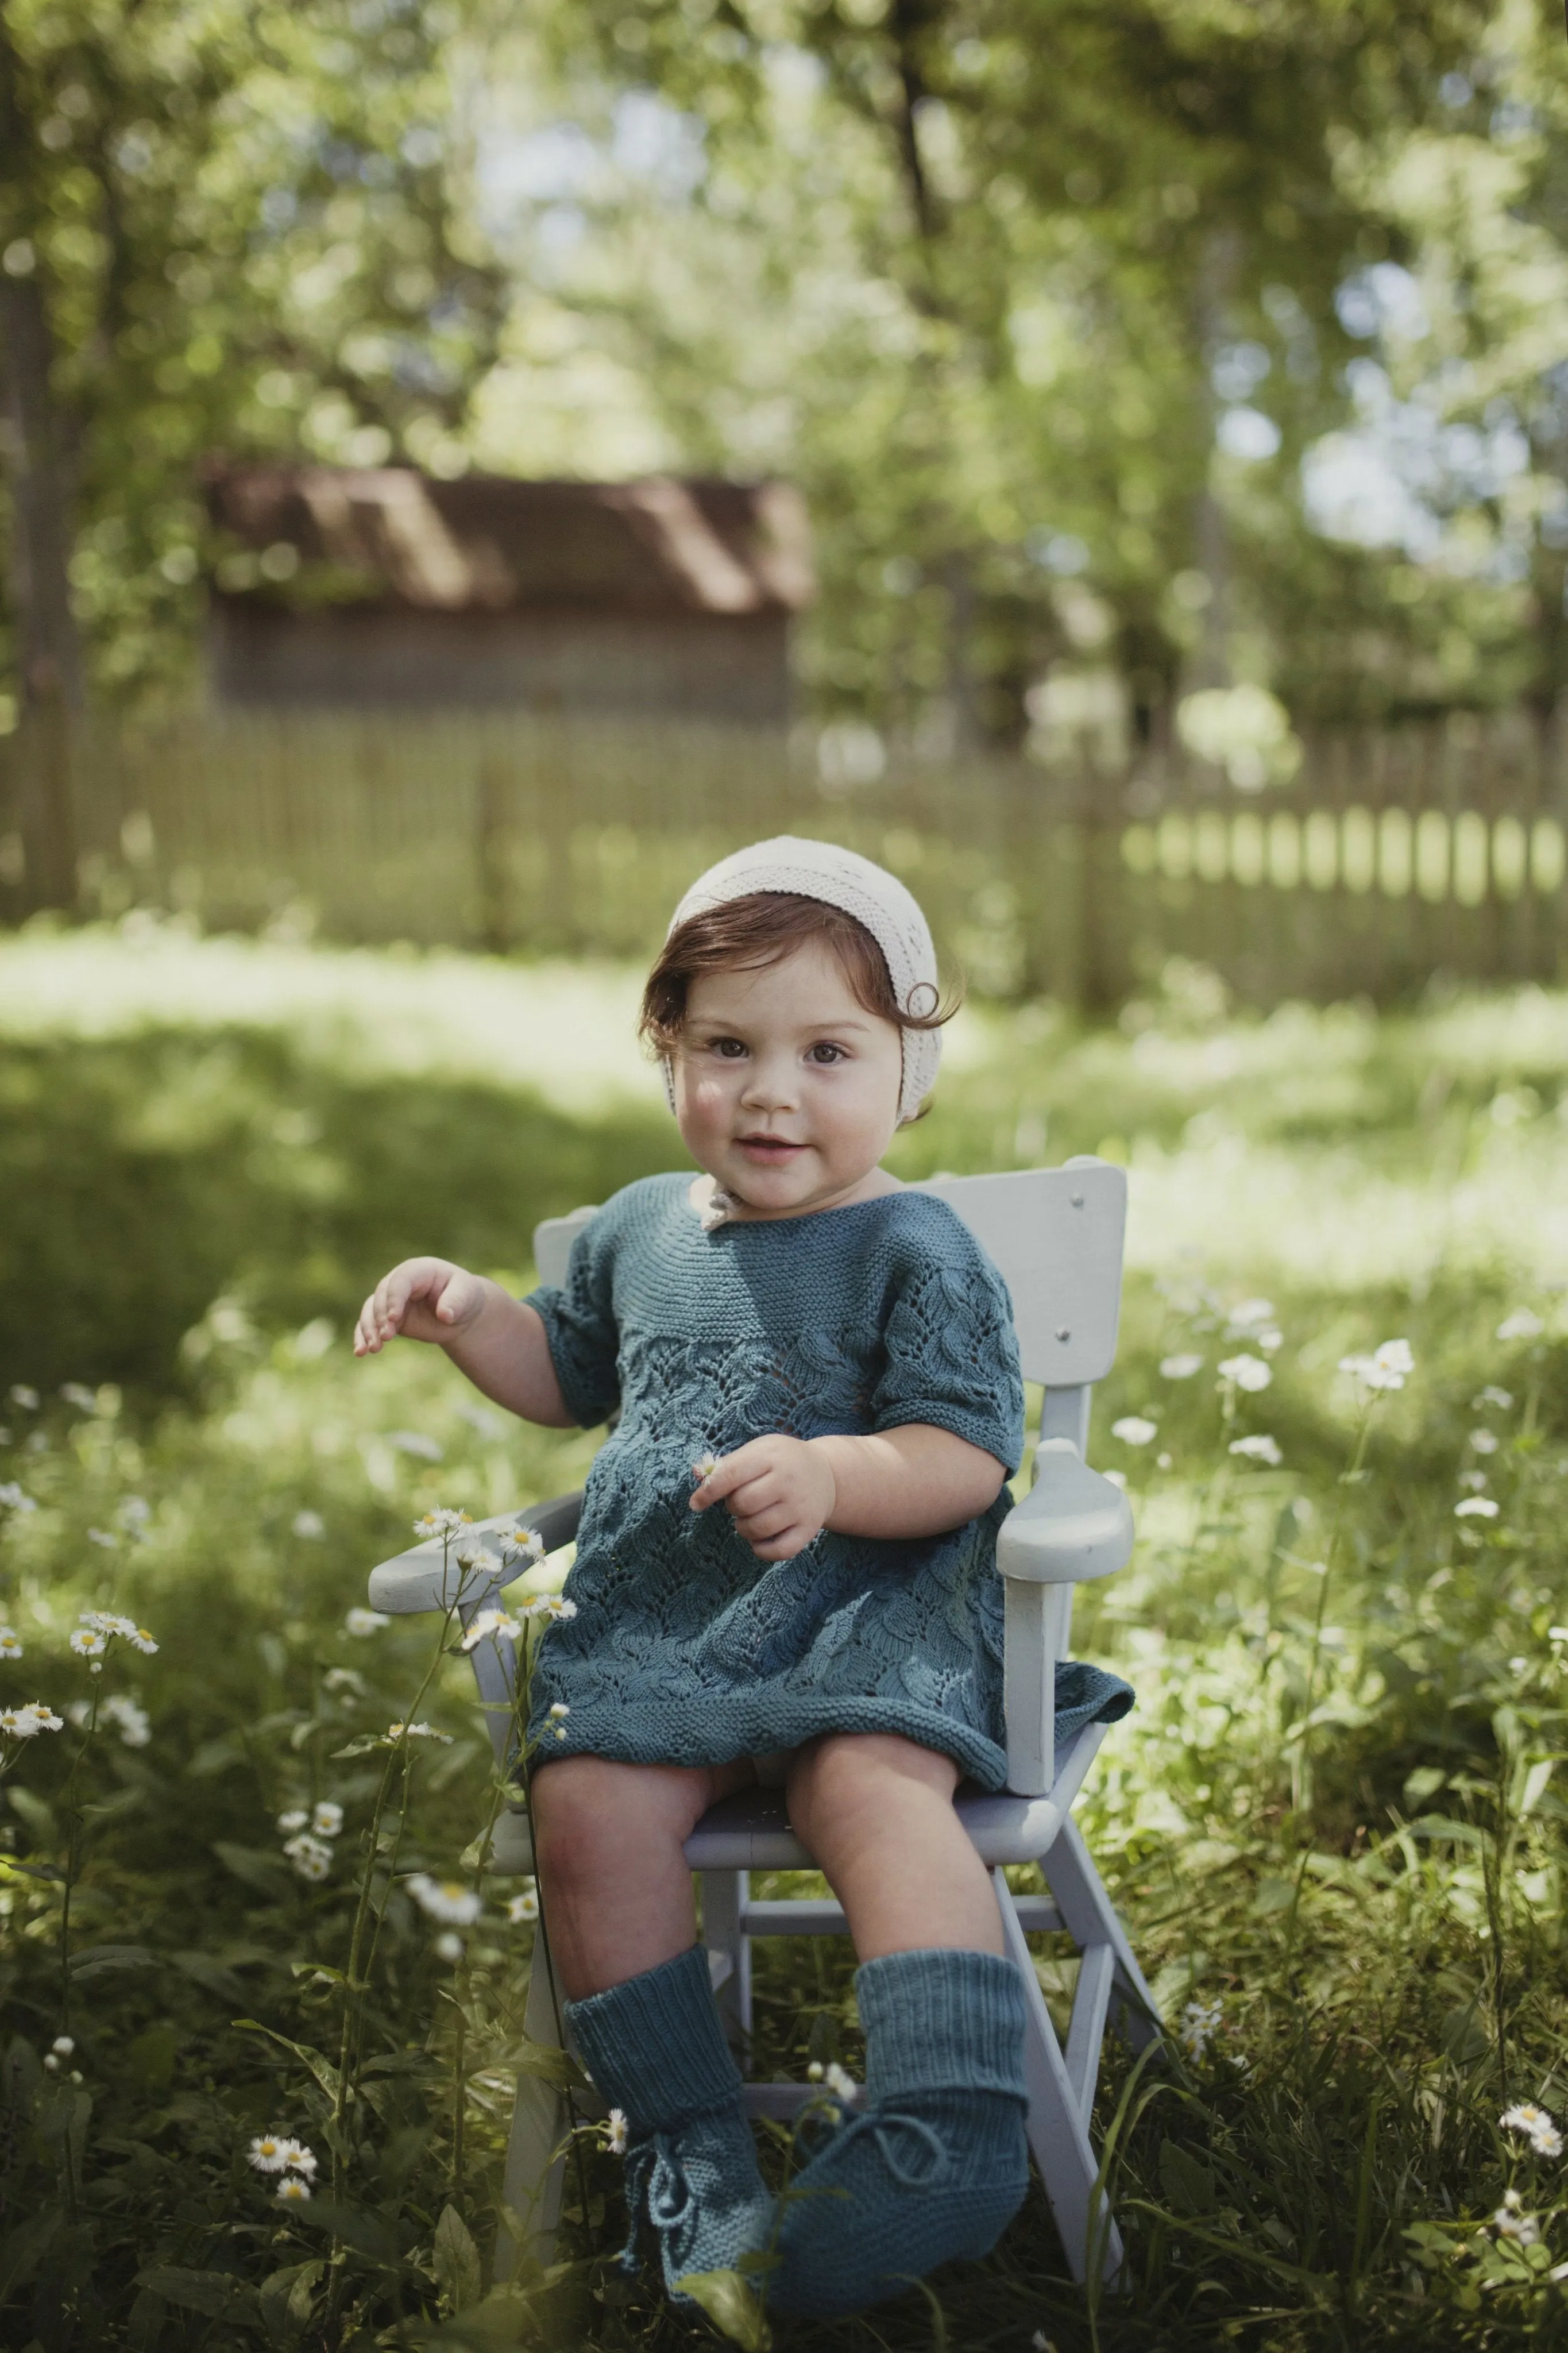
[[[900,1732],[1001,1788],[1006,1492],[940,1537],[823,1532],[778,1562],[757,1560],[722,1506],[689,1508],[701,1454],[771,1431],[924,1421],[1018,1471],[1001,1275],[929,1193],[705,1233],[689,1188],[646,1176],[616,1193],[564,1287],[531,1294],[567,1409],[585,1428],[621,1409],[588,1473],[576,1617],[538,1652],[531,1732],[552,1704],[569,1711],[541,1765],[724,1765],[820,1732]],[[1058,1668],[1058,1744],[1131,1704],[1114,1675]]]

